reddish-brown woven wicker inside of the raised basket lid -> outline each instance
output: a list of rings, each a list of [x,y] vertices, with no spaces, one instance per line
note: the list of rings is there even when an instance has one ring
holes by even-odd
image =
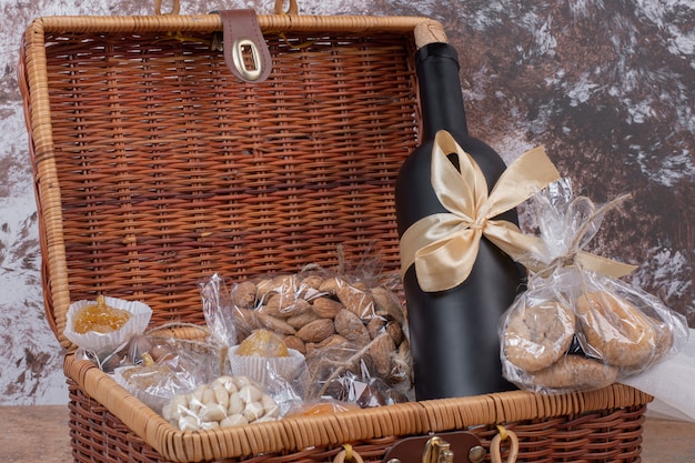
[[[200,323],[212,272],[331,266],[339,245],[357,259],[372,243],[397,269],[412,29],[269,34],[272,74],[254,85],[211,51],[212,32],[178,32],[42,38],[51,132],[34,130],[33,162],[59,338],[67,305],[97,293],[143,300],[153,324]]]

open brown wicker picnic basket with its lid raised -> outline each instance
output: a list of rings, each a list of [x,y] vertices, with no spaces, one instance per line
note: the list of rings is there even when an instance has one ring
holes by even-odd
[[[51,328],[71,301],[142,300],[152,326],[203,324],[198,281],[334,265],[374,243],[399,266],[393,184],[416,144],[424,18],[260,16],[273,69],[235,79],[216,14],[52,17],[20,60]],[[651,397],[624,385],[507,392],[180,432],[93,364],[66,356],[79,462],[380,461],[409,436],[496,425],[523,462],[638,462]],[[417,456],[417,455],[415,455]],[[488,457],[487,457],[488,459]],[[467,461],[467,460],[464,460]]]

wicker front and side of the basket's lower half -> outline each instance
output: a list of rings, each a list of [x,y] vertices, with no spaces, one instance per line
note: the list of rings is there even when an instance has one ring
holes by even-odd
[[[104,378],[93,365],[74,361],[71,356],[66,369],[88,389],[98,387],[93,382]],[[118,389],[111,390],[109,395],[112,405],[104,406],[91,399],[83,387],[71,383],[73,420],[70,434],[78,443],[73,445],[75,461],[169,461],[145,440],[133,435],[109,411],[125,411],[123,401],[134,399]],[[333,416],[285,419],[201,435],[174,432],[143,405],[135,410],[143,416],[151,415],[145,432],[155,435],[157,440],[148,442],[170,446],[168,451],[182,457],[181,461],[330,462],[342,450],[341,443],[351,443],[365,461],[377,462],[397,439],[423,435],[429,431],[470,430],[483,446],[488,447],[497,434],[495,424],[500,423],[518,436],[520,463],[627,463],[641,461],[642,424],[647,401],[645,394],[623,385],[567,395],[518,391],[413,402]],[[182,443],[187,441],[194,454],[183,450]],[[231,444],[234,449],[228,446]],[[239,457],[228,457],[236,454]]]

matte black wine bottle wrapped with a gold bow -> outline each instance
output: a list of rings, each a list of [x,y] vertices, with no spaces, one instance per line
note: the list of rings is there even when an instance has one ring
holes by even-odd
[[[490,145],[469,135],[455,48],[449,43],[430,43],[417,50],[415,60],[423,133],[421,144],[403,163],[396,182],[396,219],[401,236],[419,220],[447,212],[435,195],[430,179],[432,147],[437,131],[450,132],[475,160],[488,189],[506,169]],[[454,165],[459,169],[456,163]],[[515,209],[496,219],[518,223]],[[415,265],[407,269],[403,284],[417,400],[513,389],[502,376],[497,325],[521,290],[523,280],[523,268],[485,238],[481,241],[471,274],[453,289],[425,292],[417,283]]]

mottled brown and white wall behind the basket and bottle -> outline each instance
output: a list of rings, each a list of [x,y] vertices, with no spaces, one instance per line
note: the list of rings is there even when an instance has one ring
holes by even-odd
[[[182,0],[182,13],[272,1]],[[20,37],[52,14],[150,14],[141,0],[0,0],[0,405],[67,401],[42,308],[21,97]],[[167,9],[168,2],[164,2]],[[611,212],[592,250],[639,265],[629,281],[695,325],[694,0],[300,0],[303,14],[417,14],[457,48],[474,135],[507,162],[537,144]],[[522,215],[524,217],[524,215]],[[524,224],[524,227],[528,227]]]

